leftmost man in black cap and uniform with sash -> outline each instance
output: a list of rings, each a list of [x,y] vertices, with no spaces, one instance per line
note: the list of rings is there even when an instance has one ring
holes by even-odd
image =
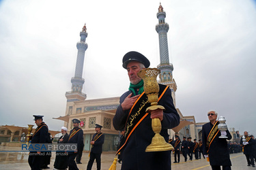
[[[31,137],[31,143],[46,143],[46,135],[48,133],[48,126],[43,122],[44,116],[33,115],[35,124],[38,126]],[[29,166],[32,170],[39,170],[42,167],[42,160],[44,158],[42,152],[29,152]]]

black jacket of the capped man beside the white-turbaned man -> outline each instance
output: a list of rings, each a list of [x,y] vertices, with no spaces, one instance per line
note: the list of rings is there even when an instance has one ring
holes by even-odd
[[[79,130],[80,129],[80,130]],[[72,132],[76,130],[77,132],[72,135]],[[79,127],[74,128],[70,131],[70,137],[68,143],[77,143],[77,148],[83,147],[83,130]],[[74,154],[74,152],[68,152],[68,154]]]

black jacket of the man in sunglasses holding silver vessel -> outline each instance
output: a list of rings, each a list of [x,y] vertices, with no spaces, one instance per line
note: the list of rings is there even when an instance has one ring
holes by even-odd
[[[204,155],[207,154],[206,141],[213,126],[214,125],[211,122],[203,124],[202,138]],[[221,136],[221,132],[219,131],[210,145],[210,149],[208,152],[210,158],[210,165],[231,166],[231,161],[229,158],[229,149],[227,148],[227,140],[230,140],[232,136],[230,135],[228,130],[226,132],[228,137],[227,139],[218,138],[219,136]]]

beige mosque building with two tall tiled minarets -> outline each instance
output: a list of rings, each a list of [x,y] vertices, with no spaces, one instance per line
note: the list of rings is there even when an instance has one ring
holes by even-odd
[[[166,13],[160,4],[158,8],[157,18],[158,24],[156,25],[156,32],[159,37],[159,49],[160,49],[160,64],[157,66],[160,69],[159,81],[160,84],[165,84],[171,88],[173,103],[175,105],[175,91],[177,90],[177,84],[173,79],[173,65],[169,63],[169,51],[167,32],[169,30],[169,24],[165,22]],[[84,150],[90,150],[90,141],[92,135],[95,132],[95,124],[102,125],[102,132],[105,135],[103,151],[115,151],[119,141],[119,131],[116,131],[113,127],[113,117],[117,106],[119,105],[119,97],[111,97],[105,99],[90,99],[87,100],[87,95],[83,93],[83,63],[85,58],[85,51],[87,50],[87,44],[85,43],[87,38],[86,26],[83,27],[80,32],[80,41],[76,44],[78,50],[76,58],[76,68],[74,77],[71,79],[72,87],[71,91],[66,92],[66,114],[57,119],[63,120],[64,126],[68,127],[70,131],[72,126],[72,119],[77,118],[81,120],[81,129],[83,129],[85,148]],[[154,66],[152,66],[154,67]],[[170,138],[173,135],[180,135],[201,139],[202,123],[196,123],[194,116],[183,116],[180,109],[176,108],[178,114],[180,114],[180,125],[174,129],[169,129]]]

